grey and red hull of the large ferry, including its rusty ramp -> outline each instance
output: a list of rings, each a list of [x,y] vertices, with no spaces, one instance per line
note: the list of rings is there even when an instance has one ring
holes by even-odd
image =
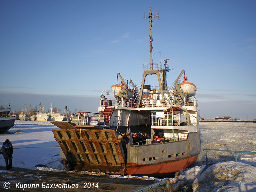
[[[68,170],[105,172],[121,175],[161,175],[177,172],[196,161],[199,153],[199,134],[164,144],[130,145],[119,141],[115,130],[100,125],[76,125],[51,122],[60,144],[61,163]],[[101,127],[101,128],[100,128]],[[126,152],[125,152],[126,151]]]

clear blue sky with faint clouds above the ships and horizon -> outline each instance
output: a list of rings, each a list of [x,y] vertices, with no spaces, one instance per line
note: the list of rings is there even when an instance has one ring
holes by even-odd
[[[8,100],[21,109],[23,103],[41,102],[49,108],[53,102],[58,108],[97,111],[100,93],[110,91],[117,72],[140,85],[143,64],[149,63],[149,20],[143,19],[149,6],[153,15],[160,12],[152,23],[153,62],[160,63],[161,51],[173,68],[167,84],[185,69],[188,81],[199,87],[202,117],[255,119],[252,0],[2,0],[0,105]]]

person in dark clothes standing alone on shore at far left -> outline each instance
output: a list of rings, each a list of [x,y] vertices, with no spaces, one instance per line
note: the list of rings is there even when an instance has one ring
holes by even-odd
[[[5,140],[2,146],[2,154],[4,155],[4,160],[6,164],[6,170],[12,170],[12,143],[9,139]],[[9,163],[8,163],[9,161]]]

